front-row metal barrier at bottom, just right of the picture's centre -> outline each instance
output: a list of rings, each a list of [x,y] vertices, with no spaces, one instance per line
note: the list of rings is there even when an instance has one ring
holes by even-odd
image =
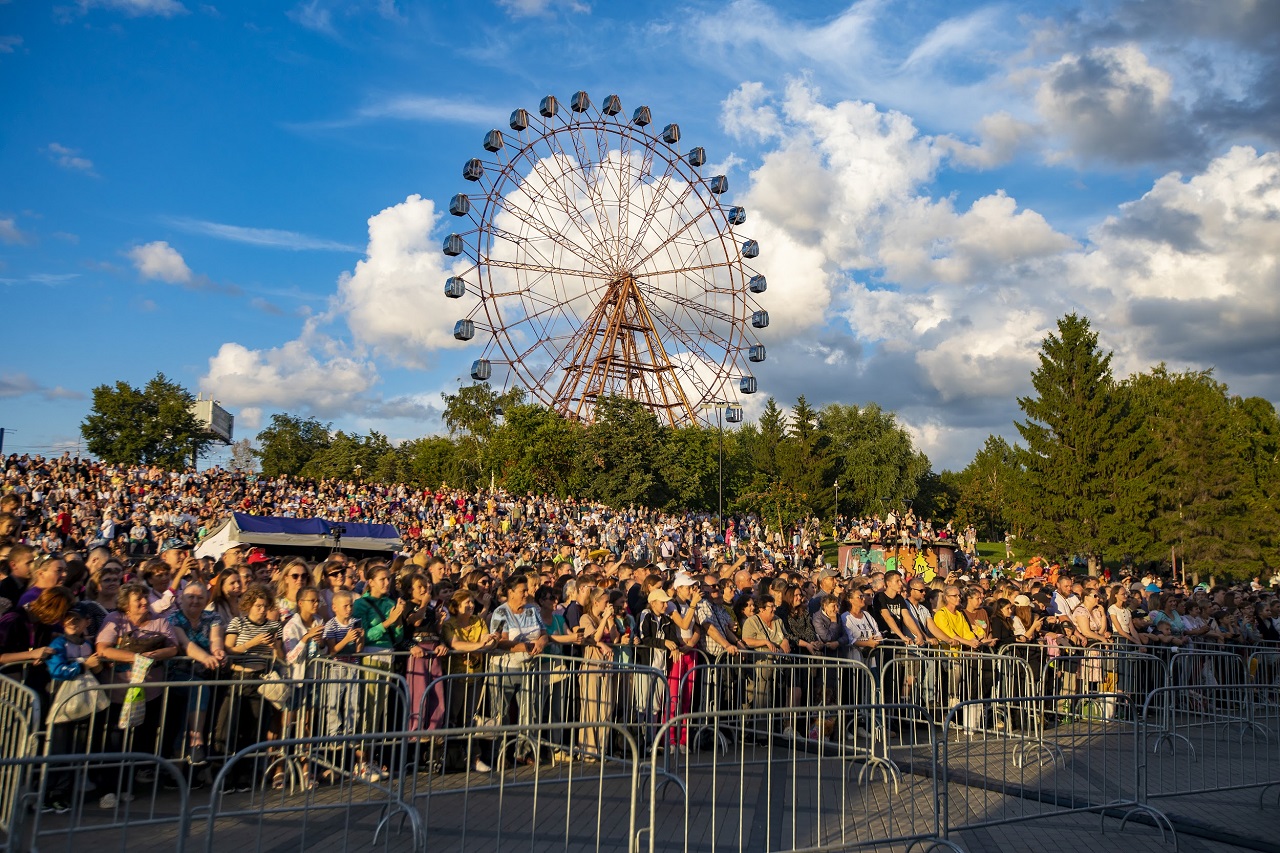
[[[923,747],[896,754],[892,771],[856,734],[841,735],[856,731],[856,720],[886,713],[924,733]],[[809,736],[780,734],[801,721]],[[671,747],[681,730],[740,736]],[[831,703],[676,716],[649,749],[649,815],[636,849],[773,853],[918,843],[957,849],[940,839],[931,731],[918,706]],[[676,763],[666,761],[672,749]]]

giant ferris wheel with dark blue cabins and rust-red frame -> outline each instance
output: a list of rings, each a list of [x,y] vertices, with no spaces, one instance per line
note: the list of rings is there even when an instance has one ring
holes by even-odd
[[[707,152],[682,151],[677,124],[655,133],[649,108],[628,119],[617,95],[596,106],[580,91],[567,109],[548,95],[508,126],[485,134],[462,168],[475,188],[449,202],[444,292],[477,297],[453,337],[485,339],[471,377],[504,366],[507,383],[579,420],[609,394],[671,425],[713,407],[741,420],[769,314],[748,264],[760,247],[735,233],[746,211],[721,204],[728,179],[701,174]]]

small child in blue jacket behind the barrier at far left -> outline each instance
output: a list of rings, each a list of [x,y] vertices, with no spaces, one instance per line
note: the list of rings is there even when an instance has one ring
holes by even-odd
[[[63,684],[78,679],[86,670],[91,672],[100,672],[102,670],[101,658],[93,652],[93,644],[86,638],[88,626],[90,617],[86,606],[83,603],[76,605],[63,616],[63,634],[55,637],[49,644],[52,653],[45,665],[49,667],[49,674],[54,680],[50,685],[50,694],[54,697],[49,731],[50,754],[70,753],[76,744],[77,733],[81,730],[87,731],[84,724],[93,719],[92,711],[82,719],[67,719],[70,704],[60,702],[59,699],[63,697],[58,694]],[[105,694],[93,692],[88,695],[81,695],[76,702],[79,706],[93,708],[102,704],[99,701],[100,698],[105,698]],[[65,815],[70,811],[68,795],[73,781],[74,772],[69,766],[68,770],[51,771],[49,774],[49,784],[45,789],[45,812]]]

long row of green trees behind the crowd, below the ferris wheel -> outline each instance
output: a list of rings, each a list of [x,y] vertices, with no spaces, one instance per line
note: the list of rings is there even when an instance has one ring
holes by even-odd
[[[790,415],[773,398],[759,420],[671,428],[637,402],[602,400],[595,421],[568,420],[521,389],[466,386],[445,394],[448,435],[393,446],[376,432],[332,432],[314,418],[271,418],[259,433],[262,473],[436,487],[498,484],[611,506],[758,512],[773,525],[883,512],[913,501],[932,512],[940,480],[891,412],[878,406],[812,407]],[[838,482],[838,489],[836,483]]]

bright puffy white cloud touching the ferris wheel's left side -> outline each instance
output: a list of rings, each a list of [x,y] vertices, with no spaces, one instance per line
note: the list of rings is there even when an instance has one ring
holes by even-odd
[[[366,257],[338,279],[356,341],[398,365],[421,368],[433,351],[462,346],[452,329],[466,309],[444,296],[453,270],[431,237],[438,219],[434,202],[416,195],[371,216]]]

